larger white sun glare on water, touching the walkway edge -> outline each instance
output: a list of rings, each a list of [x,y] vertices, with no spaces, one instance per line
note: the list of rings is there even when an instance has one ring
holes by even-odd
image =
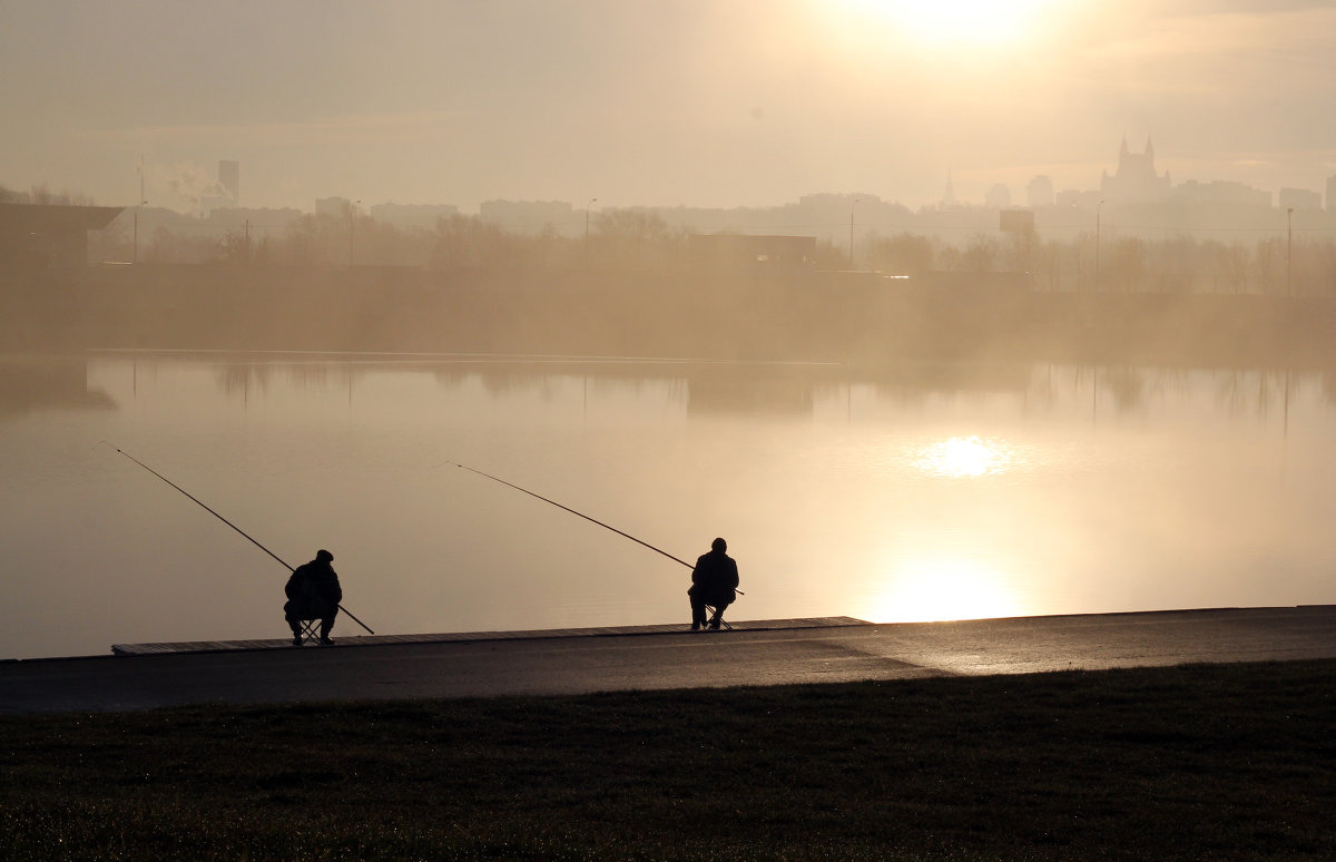
[[[908,560],[870,608],[874,623],[925,623],[1021,616],[1025,608],[1003,577],[973,560]]]

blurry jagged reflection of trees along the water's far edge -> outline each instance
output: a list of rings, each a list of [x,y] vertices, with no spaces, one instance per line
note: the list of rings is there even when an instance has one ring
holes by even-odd
[[[112,354],[114,355],[114,354]],[[811,416],[842,402],[854,417],[854,393],[866,390],[876,402],[929,406],[942,397],[978,401],[1010,394],[1030,410],[1085,404],[1093,421],[1145,413],[1156,405],[1194,401],[1216,392],[1226,416],[1267,418],[1288,410],[1300,388],[1336,405],[1336,372],[1209,370],[1132,366],[977,365],[903,362],[886,366],[800,362],[696,362],[689,360],[628,360],[617,357],[532,357],[494,354],[257,354],[218,355],[159,353],[136,357],[135,366],[194,358],[216,368],[219,390],[246,401],[275,381],[351,397],[359,382],[387,373],[426,373],[446,389],[477,382],[496,396],[538,394],[554,398],[562,378],[578,378],[582,396],[600,389],[640,392],[667,385],[688,414]],[[1208,384],[1204,389],[1204,382]],[[3,393],[0,393],[3,397]]]

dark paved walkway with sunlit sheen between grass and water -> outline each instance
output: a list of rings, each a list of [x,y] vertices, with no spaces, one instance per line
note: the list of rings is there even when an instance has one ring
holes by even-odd
[[[343,637],[334,647],[303,648],[253,641],[211,644],[204,651],[0,662],[0,712],[554,695],[1336,658],[1336,605],[735,625],[731,632],[708,633],[665,625],[403,636],[390,639],[394,643]]]

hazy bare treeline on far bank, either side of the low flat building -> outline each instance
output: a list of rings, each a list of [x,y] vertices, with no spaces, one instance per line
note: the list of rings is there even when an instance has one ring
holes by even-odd
[[[289,266],[415,266],[428,269],[619,269],[673,271],[691,265],[689,227],[648,210],[595,214],[587,235],[553,229],[517,233],[473,215],[438,219],[434,230],[397,227],[365,214],[306,214],[281,234],[240,225],[216,235],[158,227],[140,235],[144,263],[267,263]],[[118,219],[92,241],[95,259],[131,259],[131,238]],[[1176,235],[977,233],[959,243],[922,234],[870,235],[847,246],[818,241],[814,270],[1026,273],[1038,291],[1336,295],[1336,242],[1264,237],[1256,241]]]

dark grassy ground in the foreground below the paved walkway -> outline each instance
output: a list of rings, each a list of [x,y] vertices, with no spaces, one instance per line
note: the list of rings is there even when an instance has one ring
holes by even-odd
[[[0,719],[4,859],[1336,858],[1336,660]]]

